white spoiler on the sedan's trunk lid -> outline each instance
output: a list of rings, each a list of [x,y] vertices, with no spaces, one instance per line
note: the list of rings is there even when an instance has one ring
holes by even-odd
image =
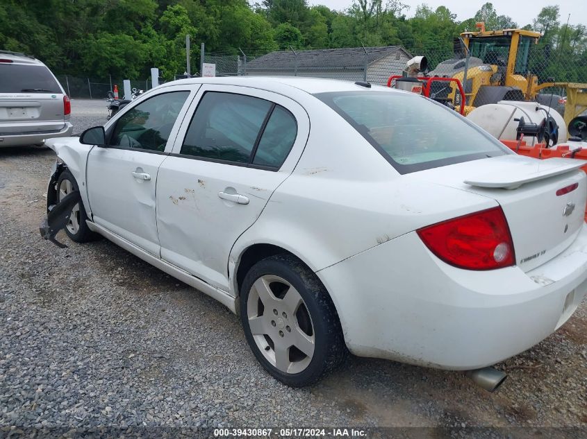
[[[584,160],[563,159],[554,157],[547,160],[515,163],[505,165],[497,173],[479,175],[464,180],[465,184],[477,187],[501,187],[504,189],[518,189],[522,184],[554,177],[579,169],[587,164]]]

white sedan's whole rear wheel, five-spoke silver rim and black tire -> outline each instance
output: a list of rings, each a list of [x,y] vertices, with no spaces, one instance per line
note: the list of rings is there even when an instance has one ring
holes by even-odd
[[[240,316],[258,361],[288,386],[312,384],[347,355],[330,296],[296,257],[272,256],[249,270]]]

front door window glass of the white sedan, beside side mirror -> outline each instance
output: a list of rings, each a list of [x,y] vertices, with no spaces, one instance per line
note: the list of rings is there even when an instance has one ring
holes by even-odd
[[[189,95],[190,92],[163,93],[135,105],[117,121],[110,145],[163,152]]]

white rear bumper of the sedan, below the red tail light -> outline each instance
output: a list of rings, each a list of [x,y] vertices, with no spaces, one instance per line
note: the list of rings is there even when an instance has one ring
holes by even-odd
[[[477,369],[536,345],[577,309],[587,291],[587,225],[528,273],[449,266],[409,233],[317,274],[354,354]]]

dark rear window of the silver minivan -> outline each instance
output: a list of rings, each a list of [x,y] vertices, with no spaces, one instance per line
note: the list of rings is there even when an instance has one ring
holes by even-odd
[[[47,67],[0,62],[0,93],[61,93]]]

